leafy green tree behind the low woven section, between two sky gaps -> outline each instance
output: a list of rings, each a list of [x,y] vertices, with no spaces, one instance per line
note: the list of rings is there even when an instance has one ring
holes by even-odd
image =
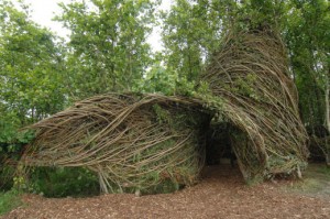
[[[151,62],[145,41],[154,3],[91,0],[61,7],[63,14],[57,20],[72,31],[67,45],[72,95],[131,90]]]

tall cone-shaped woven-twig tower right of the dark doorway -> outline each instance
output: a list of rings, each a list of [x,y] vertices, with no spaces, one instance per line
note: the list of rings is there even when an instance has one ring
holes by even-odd
[[[277,33],[267,28],[229,32],[201,81],[210,91],[204,100],[217,112],[213,120],[224,118],[238,128],[233,151],[245,179],[300,174],[307,134]]]

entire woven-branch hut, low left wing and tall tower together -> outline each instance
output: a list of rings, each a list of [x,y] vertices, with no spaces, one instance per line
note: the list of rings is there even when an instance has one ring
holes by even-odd
[[[306,167],[307,134],[279,35],[229,32],[199,85],[198,99],[108,94],[77,102],[30,127],[36,138],[22,164],[87,167],[105,193],[167,179],[191,185],[213,117],[216,125],[233,124],[231,144],[246,180]]]

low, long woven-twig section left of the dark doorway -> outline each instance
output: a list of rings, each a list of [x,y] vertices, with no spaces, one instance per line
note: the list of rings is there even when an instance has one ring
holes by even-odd
[[[202,167],[197,100],[161,95],[92,97],[33,124],[25,166],[84,166],[102,191],[191,185]]]

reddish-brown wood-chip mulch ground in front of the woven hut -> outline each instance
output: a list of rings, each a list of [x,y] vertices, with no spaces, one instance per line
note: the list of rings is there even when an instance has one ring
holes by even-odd
[[[25,205],[2,218],[330,218],[330,198],[288,194],[280,183],[248,186],[238,169],[208,167],[204,180],[175,194],[135,197],[44,198],[24,195]]]

